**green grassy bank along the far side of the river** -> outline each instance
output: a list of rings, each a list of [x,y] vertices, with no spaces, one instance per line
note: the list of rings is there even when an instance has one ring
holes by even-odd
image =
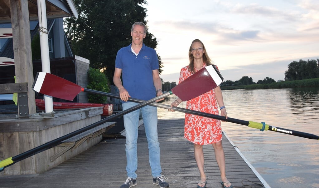
[[[251,85],[239,85],[239,86],[226,86],[220,87],[221,90],[258,90],[258,89],[280,89],[280,88],[305,88],[305,87],[319,87],[319,78],[273,82],[268,84],[251,84]]]

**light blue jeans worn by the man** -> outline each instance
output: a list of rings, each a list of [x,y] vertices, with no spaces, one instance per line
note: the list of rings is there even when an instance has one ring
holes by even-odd
[[[134,102],[126,102],[122,104],[123,110],[137,105]],[[126,171],[127,176],[136,179],[137,174],[137,136],[138,136],[138,121],[139,114],[142,112],[144,121],[145,134],[148,143],[149,163],[152,170],[152,176],[161,176],[162,169],[159,162],[159,141],[157,135],[157,107],[144,106],[138,110],[125,114],[124,128],[126,134]]]

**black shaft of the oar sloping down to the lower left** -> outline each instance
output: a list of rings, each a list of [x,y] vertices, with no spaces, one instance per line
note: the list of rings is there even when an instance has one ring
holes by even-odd
[[[28,151],[26,151],[24,153],[16,155],[16,156],[12,157],[12,161],[17,162],[18,160],[25,159],[26,157],[28,157],[30,155],[33,155],[33,154],[35,154],[35,153],[37,153],[39,151],[42,151],[42,150],[45,150],[45,149],[49,149],[50,147],[53,147],[53,146],[59,144],[63,140],[66,140],[66,139],[68,139],[70,137],[78,135],[78,134],[80,134],[80,133],[82,133],[82,132],[84,132],[86,130],[89,130],[89,129],[92,129],[94,127],[97,127],[97,126],[101,125],[102,123],[108,122],[111,119],[118,118],[118,117],[120,117],[120,116],[122,116],[124,114],[130,113],[130,112],[132,112],[134,110],[137,110],[139,108],[147,106],[147,105],[151,104],[152,102],[155,102],[156,100],[158,100],[160,98],[165,98],[165,97],[167,97],[167,96],[169,96],[171,94],[172,94],[172,92],[165,93],[165,94],[160,95],[158,97],[152,98],[152,99],[150,99],[148,101],[144,101],[144,102],[142,102],[142,103],[140,103],[140,104],[138,104],[136,106],[133,106],[133,107],[131,107],[129,109],[123,110],[123,111],[121,111],[119,113],[116,113],[116,114],[113,114],[113,115],[110,115],[107,118],[104,118],[104,119],[102,119],[100,121],[97,121],[97,122],[91,124],[91,125],[83,127],[82,129],[78,129],[78,130],[73,131],[73,132],[71,132],[69,134],[66,134],[66,135],[64,135],[62,137],[58,137],[58,138],[56,138],[56,139],[54,139],[54,140],[52,140],[50,142],[47,142],[47,143],[42,144],[42,145],[39,145],[38,147],[35,147],[35,148],[33,148],[31,150],[28,150]]]

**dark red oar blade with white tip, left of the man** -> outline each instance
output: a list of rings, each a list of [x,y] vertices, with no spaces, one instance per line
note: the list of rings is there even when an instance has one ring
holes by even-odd
[[[32,89],[48,96],[73,100],[81,92],[82,87],[54,74],[38,72]]]

